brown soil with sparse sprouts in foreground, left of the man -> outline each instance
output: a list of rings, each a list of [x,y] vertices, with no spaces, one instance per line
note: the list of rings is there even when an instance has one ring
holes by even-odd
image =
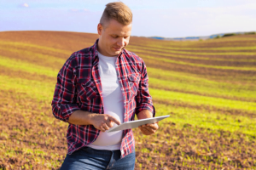
[[[0,99],[0,133],[8,133],[7,137],[1,136],[0,144],[6,151],[15,152],[15,156],[0,157],[0,168],[26,169],[24,166],[32,165],[33,169],[47,169],[46,161],[62,161],[61,157],[51,156],[50,153],[66,155],[67,144],[63,134],[67,127],[52,116],[50,104],[29,99],[25,94],[3,90],[0,91]],[[53,123],[49,124],[42,115],[52,117]],[[26,152],[26,149],[41,150],[46,155],[41,153],[41,163],[35,163],[34,159],[39,157]]]

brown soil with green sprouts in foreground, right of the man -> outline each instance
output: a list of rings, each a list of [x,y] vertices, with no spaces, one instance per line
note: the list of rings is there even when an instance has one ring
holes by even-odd
[[[255,166],[256,147],[239,133],[212,131],[185,124],[178,129],[175,123],[162,124],[161,133],[143,138],[135,131],[137,140],[137,167],[139,169],[242,169]],[[253,146],[251,149],[247,146]],[[141,151],[147,149],[146,151]],[[239,150],[244,150],[239,152]],[[252,158],[244,161],[244,158]],[[141,167],[140,167],[141,165]]]

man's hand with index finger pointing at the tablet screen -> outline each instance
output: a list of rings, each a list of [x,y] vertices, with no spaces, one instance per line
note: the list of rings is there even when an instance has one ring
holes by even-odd
[[[102,132],[105,132],[110,127],[113,127],[113,123],[116,123],[117,125],[121,124],[119,120],[106,114],[94,114],[94,116],[91,118],[91,124]]]

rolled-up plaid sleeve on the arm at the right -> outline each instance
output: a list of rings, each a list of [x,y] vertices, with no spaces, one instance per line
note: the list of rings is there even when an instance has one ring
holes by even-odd
[[[141,81],[139,83],[137,96],[136,96],[136,114],[138,114],[140,111],[148,110],[151,111],[153,114],[153,117],[155,116],[155,109],[152,102],[152,97],[149,94],[148,89],[148,74],[146,65],[144,62],[142,62],[142,69],[141,69]]]

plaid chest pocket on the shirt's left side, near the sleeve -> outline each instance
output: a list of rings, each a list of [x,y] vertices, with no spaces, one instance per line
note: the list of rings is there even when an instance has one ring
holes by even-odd
[[[83,101],[90,101],[100,97],[96,83],[91,78],[81,78],[78,80],[78,95]]]

